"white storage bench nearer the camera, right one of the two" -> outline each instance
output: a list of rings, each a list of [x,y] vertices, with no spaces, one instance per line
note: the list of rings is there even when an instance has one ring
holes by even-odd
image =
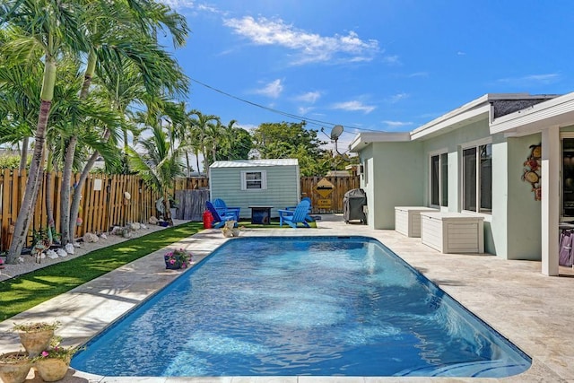
[[[483,253],[483,217],[463,213],[421,213],[421,240],[441,253]]]

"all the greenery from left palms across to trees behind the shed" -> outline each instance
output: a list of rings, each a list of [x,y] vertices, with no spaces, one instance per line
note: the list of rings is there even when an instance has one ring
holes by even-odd
[[[20,154],[17,165],[0,164],[28,171],[8,263],[22,252],[45,171],[62,172],[60,205],[45,205],[48,230],[65,245],[74,240],[80,209],[75,190],[99,158],[104,171],[140,173],[164,196],[166,214],[173,178],[213,161],[297,158],[302,175],[343,169],[348,158],[334,159],[305,122],[248,131],[188,108],[181,101],[188,79],[169,50],[182,46],[188,31],[186,19],[160,0],[0,2],[0,144]],[[160,33],[172,47],[159,43]],[[80,177],[73,184],[74,173]]]

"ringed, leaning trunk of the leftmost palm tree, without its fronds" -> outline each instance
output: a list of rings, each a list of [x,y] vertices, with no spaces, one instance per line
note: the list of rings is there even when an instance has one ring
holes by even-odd
[[[24,199],[16,222],[14,223],[14,236],[6,256],[6,263],[9,264],[15,263],[16,259],[20,257],[22,253],[22,248],[28,235],[30,217],[33,214],[38,196],[39,175],[42,160],[44,159],[44,147],[46,146],[46,130],[48,128],[48,118],[52,100],[54,99],[54,85],[56,83],[56,60],[50,56],[47,56],[45,60],[44,78],[42,91],[40,93],[41,103],[39,107],[38,126],[36,127],[36,135],[34,135],[34,152],[30,163],[30,174],[26,182],[26,190],[24,191]]]

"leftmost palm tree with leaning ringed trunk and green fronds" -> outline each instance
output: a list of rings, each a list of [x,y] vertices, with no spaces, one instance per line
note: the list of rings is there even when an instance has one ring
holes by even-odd
[[[6,257],[8,263],[15,262],[22,252],[38,194],[58,60],[67,54],[88,51],[81,5],[58,0],[4,0],[0,5],[0,28],[12,29],[20,36],[4,44],[4,59],[22,63],[30,57],[38,57],[41,52],[44,64],[34,152],[22,206],[14,223],[13,242]]]

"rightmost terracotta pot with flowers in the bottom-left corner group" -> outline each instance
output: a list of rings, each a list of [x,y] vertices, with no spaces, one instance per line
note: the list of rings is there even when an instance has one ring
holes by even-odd
[[[61,341],[61,337],[53,337],[50,347],[32,360],[40,378],[46,382],[64,379],[72,356],[78,351],[77,347],[62,347]]]

